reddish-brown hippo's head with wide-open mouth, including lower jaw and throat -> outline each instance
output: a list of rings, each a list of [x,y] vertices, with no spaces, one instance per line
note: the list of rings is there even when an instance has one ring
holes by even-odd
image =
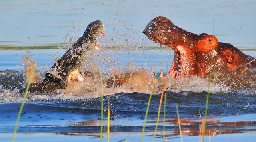
[[[212,51],[218,48],[218,39],[213,35],[197,35],[178,26],[168,18],[159,16],[151,20],[143,31],[155,43],[166,45],[174,50],[174,60],[169,74],[205,75],[210,71]]]

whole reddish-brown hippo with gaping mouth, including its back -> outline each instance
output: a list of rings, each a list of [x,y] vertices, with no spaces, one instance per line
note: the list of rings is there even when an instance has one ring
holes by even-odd
[[[242,53],[231,44],[218,42],[213,35],[188,32],[162,16],[151,20],[143,33],[155,43],[174,50],[174,60],[169,71],[172,77],[208,77],[212,71],[213,78],[222,78],[220,80],[230,87],[248,85],[240,83],[241,77],[245,76],[252,80],[251,84],[256,82],[255,58]],[[228,76],[230,81],[223,75]]]

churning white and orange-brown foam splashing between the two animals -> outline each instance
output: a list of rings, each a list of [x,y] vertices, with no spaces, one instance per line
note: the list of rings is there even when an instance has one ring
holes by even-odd
[[[162,85],[164,84],[164,79],[166,77],[166,87],[165,91],[192,91],[192,92],[202,92],[208,91],[208,79],[204,79],[197,76],[192,76],[190,78],[178,77],[173,78],[170,75],[164,77],[157,77],[154,79],[152,71],[148,69],[140,68],[130,61],[123,67],[119,67],[118,64],[120,61],[115,60],[113,62],[112,57],[106,56],[104,48],[101,48],[102,51],[90,51],[87,55],[86,60],[83,65],[80,67],[81,74],[83,76],[82,81],[71,82],[69,83],[66,89],[60,90],[60,94],[49,95],[41,93],[29,93],[26,101],[47,101],[55,99],[68,99],[68,100],[77,100],[77,99],[88,99],[88,98],[97,98],[101,96],[101,91],[103,89],[104,95],[111,95],[115,93],[146,93],[149,94],[153,89],[153,93],[161,93]],[[22,57],[22,63],[24,63],[26,73],[24,73],[22,79],[30,76],[32,70],[32,64],[36,62],[32,57],[28,57],[27,53]],[[100,67],[103,71],[102,79],[103,86],[100,81]],[[152,66],[153,68],[154,66]],[[37,71],[37,75],[34,77],[34,82],[42,81],[44,78],[44,71]],[[1,72],[4,75],[4,71]],[[20,73],[23,74],[23,73]],[[12,74],[9,74],[12,75]],[[40,76],[41,75],[41,76]],[[8,76],[8,75],[6,75]],[[113,83],[115,77],[119,77],[122,82],[122,85],[118,83]],[[110,82],[110,85],[109,85]],[[155,84],[154,84],[155,83]],[[26,87],[27,82],[22,84],[22,87]],[[8,84],[12,85],[12,84]],[[19,92],[19,87],[16,89],[6,89],[6,87],[1,87],[1,102],[21,102],[23,95]],[[216,85],[214,83],[210,84],[211,93],[220,93],[228,91],[228,87],[223,85]]]

